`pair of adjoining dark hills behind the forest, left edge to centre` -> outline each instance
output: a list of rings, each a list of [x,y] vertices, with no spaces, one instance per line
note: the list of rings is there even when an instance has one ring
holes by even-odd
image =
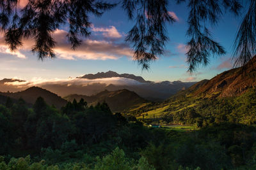
[[[135,92],[131,92],[126,89],[112,92],[104,90],[94,96],[70,94],[63,99],[49,90],[42,89],[40,87],[29,87],[28,89],[20,92],[0,92],[0,104],[5,104],[7,97],[10,97],[15,103],[17,103],[18,99],[22,98],[28,104],[28,106],[32,106],[38,97],[43,97],[47,104],[54,105],[58,109],[65,106],[68,101],[72,102],[74,99],[79,101],[81,98],[83,98],[84,101],[88,103],[88,106],[94,106],[97,103],[106,102],[109,105],[110,110],[113,112],[121,112],[136,106],[140,106],[140,104],[147,103],[147,100],[138,96],[138,94]]]

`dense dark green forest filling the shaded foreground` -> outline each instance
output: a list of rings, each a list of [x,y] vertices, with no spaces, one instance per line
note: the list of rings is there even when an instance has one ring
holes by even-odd
[[[8,98],[0,105],[0,134],[0,169],[256,169],[253,125],[150,128],[83,99],[57,110],[42,97],[32,108]]]

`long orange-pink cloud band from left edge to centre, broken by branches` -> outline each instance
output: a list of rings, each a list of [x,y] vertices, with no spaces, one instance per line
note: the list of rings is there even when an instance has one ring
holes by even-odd
[[[76,50],[72,50],[70,44],[67,41],[67,31],[57,29],[53,34],[53,38],[56,41],[56,47],[54,48],[54,51],[56,52],[56,56],[60,59],[116,60],[120,57],[132,58],[133,56],[133,51],[129,45],[125,43],[85,39],[81,43],[81,46],[79,46]],[[0,41],[0,52],[12,53],[10,50],[8,50],[8,47],[5,45],[5,42],[2,39],[3,38],[1,38]],[[21,49],[29,51],[31,50],[31,47],[35,45],[35,41],[33,41],[33,39],[24,39],[23,44],[24,45],[21,47]],[[12,54],[22,59],[26,58],[26,56],[19,50]]]

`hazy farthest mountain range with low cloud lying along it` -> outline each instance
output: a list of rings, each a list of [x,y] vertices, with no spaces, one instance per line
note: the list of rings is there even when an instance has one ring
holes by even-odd
[[[29,87],[42,87],[65,97],[70,94],[81,94],[93,96],[104,90],[116,91],[127,89],[136,92],[139,96],[150,101],[163,101],[176,94],[180,90],[185,90],[196,82],[182,81],[146,81],[141,76],[133,74],[118,74],[114,71],[97,74],[84,74],[77,78],[65,80],[48,81],[25,81],[17,79],[3,79],[0,81],[0,91],[18,92]]]

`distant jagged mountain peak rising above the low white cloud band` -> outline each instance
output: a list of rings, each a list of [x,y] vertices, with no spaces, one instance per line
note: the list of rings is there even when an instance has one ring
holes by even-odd
[[[97,79],[97,78],[112,78],[112,77],[123,77],[123,78],[130,78],[132,80],[139,81],[141,83],[150,83],[151,81],[146,81],[141,76],[135,76],[134,74],[118,74],[115,71],[108,71],[106,73],[104,72],[98,72],[96,74],[85,74],[84,76],[77,77],[77,78],[87,78],[87,79]]]

